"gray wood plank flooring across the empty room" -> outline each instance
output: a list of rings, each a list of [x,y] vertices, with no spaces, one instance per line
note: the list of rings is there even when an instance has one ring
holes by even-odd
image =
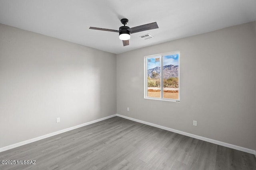
[[[112,117],[0,152],[1,170],[256,170],[253,154]]]

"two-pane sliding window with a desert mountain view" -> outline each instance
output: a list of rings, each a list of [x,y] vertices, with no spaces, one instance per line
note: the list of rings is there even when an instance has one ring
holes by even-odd
[[[145,57],[145,98],[180,102],[180,51]]]

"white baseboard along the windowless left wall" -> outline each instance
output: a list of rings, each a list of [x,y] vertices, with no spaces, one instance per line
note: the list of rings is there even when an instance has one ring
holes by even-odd
[[[27,141],[22,141],[22,142],[19,142],[19,143],[15,143],[13,145],[9,145],[9,146],[6,146],[6,147],[2,147],[0,148],[0,152],[3,152],[5,150],[9,150],[9,149],[13,149],[13,148],[16,148],[16,147],[20,147],[22,145],[26,145],[28,143],[32,143],[32,142],[35,142],[35,141],[39,141],[41,139],[45,139],[45,138],[48,138],[48,137],[52,137],[54,135],[58,135],[60,133],[64,133],[64,132],[67,132],[67,131],[71,131],[73,129],[77,129],[79,127],[83,127],[83,126],[86,126],[86,125],[90,125],[92,123],[96,123],[98,121],[102,121],[102,120],[105,120],[105,119],[109,119],[111,117],[115,117],[116,114],[114,115],[110,115],[110,116],[107,116],[107,117],[103,117],[101,119],[97,119],[97,120],[94,120],[94,121],[90,121],[90,122],[87,122],[87,123],[83,123],[81,125],[76,125],[76,126],[73,126],[73,127],[69,127],[67,129],[63,129],[63,130],[60,130],[60,131],[56,131],[56,132],[53,132],[53,133],[49,133],[49,134],[46,134],[46,135],[43,135],[43,136],[40,136],[40,137],[36,137],[36,138],[33,138],[33,139],[29,139]]]

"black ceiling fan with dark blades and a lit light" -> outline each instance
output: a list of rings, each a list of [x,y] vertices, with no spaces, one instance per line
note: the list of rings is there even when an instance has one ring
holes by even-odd
[[[90,27],[89,29],[97,29],[97,30],[101,30],[101,31],[111,31],[111,32],[118,32],[119,33],[119,39],[121,39],[123,41],[123,45],[129,45],[129,39],[130,39],[130,34],[131,33],[137,33],[140,31],[146,31],[146,30],[150,30],[150,29],[156,29],[158,28],[158,25],[156,22],[153,23],[148,23],[145,25],[140,25],[137,27],[128,27],[125,26],[128,23],[128,19],[123,18],[121,20],[121,23],[124,24],[124,26],[119,27],[119,30],[114,30],[114,29],[105,29],[105,28],[97,28],[97,27]]]

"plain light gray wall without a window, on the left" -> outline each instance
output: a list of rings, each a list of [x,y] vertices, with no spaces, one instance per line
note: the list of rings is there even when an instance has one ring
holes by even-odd
[[[0,24],[0,148],[116,114],[115,75],[115,54]]]

